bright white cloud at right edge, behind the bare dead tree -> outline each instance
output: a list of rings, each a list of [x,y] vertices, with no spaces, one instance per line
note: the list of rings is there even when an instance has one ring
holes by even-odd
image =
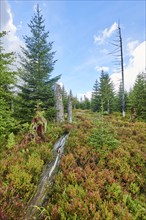
[[[131,42],[131,45],[136,45]],[[139,45],[132,46],[129,50],[130,58],[128,65],[125,66],[124,70],[124,79],[125,79],[125,89],[129,91],[133,87],[137,75],[141,72],[144,72],[146,69],[146,41],[143,41]],[[118,89],[121,73],[114,73],[111,75],[111,79],[115,84],[116,90]]]

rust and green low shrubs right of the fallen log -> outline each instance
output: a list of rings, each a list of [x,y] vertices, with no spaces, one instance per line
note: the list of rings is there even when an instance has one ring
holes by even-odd
[[[77,111],[42,219],[146,219],[146,124]]]

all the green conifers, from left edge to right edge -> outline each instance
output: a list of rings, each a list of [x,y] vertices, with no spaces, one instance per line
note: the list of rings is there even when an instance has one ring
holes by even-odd
[[[49,42],[49,32],[45,31],[44,19],[37,6],[28,24],[30,36],[24,36],[25,46],[19,55],[20,66],[14,67],[15,53],[7,53],[0,33],[0,136],[1,143],[11,132],[17,132],[22,124],[30,123],[39,108],[47,120],[55,117],[54,85],[60,75],[52,77],[56,63],[53,42]],[[15,69],[15,71],[14,71]],[[108,73],[101,72],[99,81],[93,86],[92,98],[78,100],[70,92],[74,108],[92,109],[94,112],[121,112],[122,87],[116,94]],[[65,112],[68,94],[62,88]],[[136,108],[136,115],[146,120],[146,74],[140,73],[130,92],[125,92],[126,111]]]

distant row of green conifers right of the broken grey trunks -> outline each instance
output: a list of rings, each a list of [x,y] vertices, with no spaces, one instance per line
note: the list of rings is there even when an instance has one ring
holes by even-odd
[[[84,96],[84,99],[76,100],[76,107],[104,114],[122,113],[121,83],[118,92],[115,92],[108,73],[102,70],[99,81],[96,80],[93,85],[91,100]],[[146,121],[146,73],[139,73],[133,88],[129,92],[125,91],[125,110]]]

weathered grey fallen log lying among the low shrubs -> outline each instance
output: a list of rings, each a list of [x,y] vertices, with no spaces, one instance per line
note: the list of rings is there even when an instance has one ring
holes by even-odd
[[[48,163],[41,175],[36,193],[30,200],[26,210],[25,220],[39,219],[39,211],[37,207],[42,207],[47,197],[48,188],[55,175],[56,168],[59,167],[61,157],[64,152],[64,145],[69,134],[62,136],[54,145],[52,155],[54,160]]]

